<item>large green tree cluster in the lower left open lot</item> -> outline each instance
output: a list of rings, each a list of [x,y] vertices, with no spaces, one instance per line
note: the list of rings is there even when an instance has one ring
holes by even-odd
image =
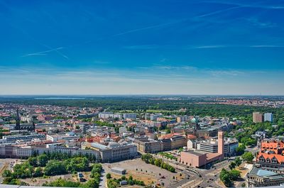
[[[70,158],[67,158],[70,157]],[[13,167],[13,172],[5,170],[3,177],[6,184],[20,184],[18,179],[65,175],[67,173],[91,171],[91,177],[86,184],[89,187],[99,186],[99,177],[102,172],[102,165],[94,164],[89,167],[89,160],[82,156],[69,156],[64,153],[48,153],[38,156],[29,157],[26,162],[16,164]],[[53,182],[53,184],[70,184],[69,182]],[[76,184],[74,184],[76,185]],[[94,186],[93,186],[94,185]],[[66,186],[70,187],[70,186]]]

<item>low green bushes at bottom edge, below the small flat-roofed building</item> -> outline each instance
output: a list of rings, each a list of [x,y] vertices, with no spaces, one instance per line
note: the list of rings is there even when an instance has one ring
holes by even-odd
[[[109,188],[119,187],[119,182],[121,182],[123,180],[125,180],[127,182],[127,184],[129,184],[129,185],[134,185],[134,184],[141,185],[141,186],[145,185],[145,183],[143,181],[133,179],[133,177],[131,175],[129,176],[129,178],[122,176],[119,179],[115,179],[115,178],[111,179],[111,175],[108,173],[107,174],[107,187],[109,187]]]

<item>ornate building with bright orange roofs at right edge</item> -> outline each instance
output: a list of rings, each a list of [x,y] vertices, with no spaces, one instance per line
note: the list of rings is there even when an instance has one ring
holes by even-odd
[[[284,173],[284,141],[262,140],[256,155],[256,162],[260,167],[278,173]]]

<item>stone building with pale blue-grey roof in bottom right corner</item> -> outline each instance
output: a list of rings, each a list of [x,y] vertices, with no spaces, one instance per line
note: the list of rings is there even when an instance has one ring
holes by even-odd
[[[248,187],[279,186],[284,183],[284,175],[263,170],[256,165],[246,175],[246,183]]]

